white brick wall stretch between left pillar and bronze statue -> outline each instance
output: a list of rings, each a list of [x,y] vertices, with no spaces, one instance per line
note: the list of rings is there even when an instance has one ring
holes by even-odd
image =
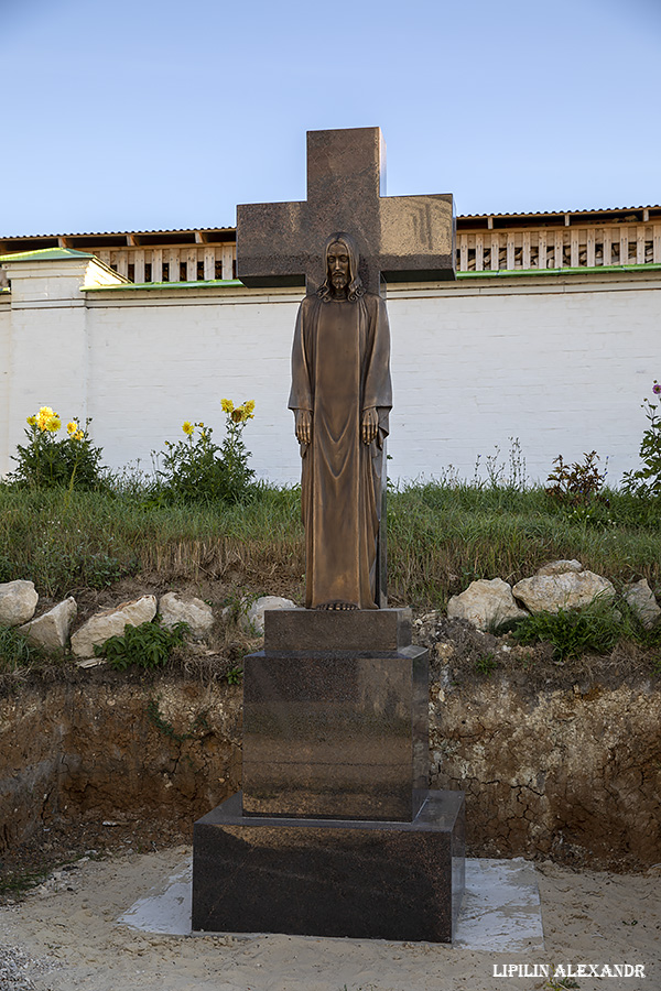
[[[294,480],[299,451],[286,401],[297,303],[187,292],[152,293],[147,305],[137,294],[119,306],[91,302],[89,413],[108,464],[140,458],[151,468],[151,450],[183,438],[184,420],[208,424],[220,440],[220,399],[253,399],[256,418],[245,432],[251,464],[260,476]]]

